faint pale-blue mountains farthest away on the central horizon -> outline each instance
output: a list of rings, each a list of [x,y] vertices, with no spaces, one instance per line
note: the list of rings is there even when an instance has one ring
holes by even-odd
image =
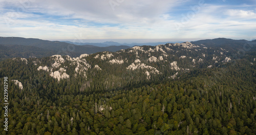
[[[129,47],[134,47],[134,46],[157,46],[159,44],[166,44],[166,43],[176,43],[176,42],[146,42],[146,43],[118,43],[114,41],[106,41],[106,42],[99,42],[99,43],[93,43],[93,42],[71,42],[71,41],[61,41],[61,42],[67,42],[71,44],[76,44],[79,46],[83,45],[91,45],[91,46],[97,46],[97,47],[109,47],[109,46],[129,46]],[[184,41],[178,41],[178,43],[181,43]]]

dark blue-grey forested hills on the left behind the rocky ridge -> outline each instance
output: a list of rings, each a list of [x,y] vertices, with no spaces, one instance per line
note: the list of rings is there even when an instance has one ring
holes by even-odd
[[[47,57],[54,54],[77,57],[85,53],[92,54],[103,51],[116,52],[121,49],[130,48],[129,46],[78,46],[67,42],[22,37],[0,37],[0,44],[0,58]]]

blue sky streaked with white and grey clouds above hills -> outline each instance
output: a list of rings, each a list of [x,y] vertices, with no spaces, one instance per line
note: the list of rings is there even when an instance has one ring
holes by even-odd
[[[0,36],[73,42],[256,39],[255,0],[0,0]]]

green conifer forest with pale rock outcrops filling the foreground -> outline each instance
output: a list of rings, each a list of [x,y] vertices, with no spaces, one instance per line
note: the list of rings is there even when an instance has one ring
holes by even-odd
[[[255,134],[255,58],[254,52],[238,55],[187,42],[78,58],[3,60],[0,130],[2,134]],[[8,77],[8,131],[4,77]]]

